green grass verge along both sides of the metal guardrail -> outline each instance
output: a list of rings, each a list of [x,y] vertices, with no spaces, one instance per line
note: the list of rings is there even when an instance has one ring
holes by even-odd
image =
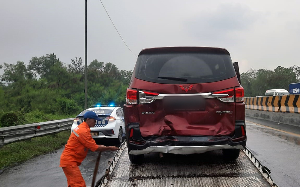
[[[53,114],[46,114],[45,118],[30,118],[26,119],[29,123],[37,123],[44,121],[51,121],[57,119],[67,119],[73,116],[57,116]],[[0,148],[0,169],[8,166],[19,164],[36,157],[41,154],[46,154],[56,149],[61,148],[67,143],[70,136],[70,131],[62,131],[58,134],[35,137],[31,140],[24,140],[22,142],[14,142],[4,145]]]

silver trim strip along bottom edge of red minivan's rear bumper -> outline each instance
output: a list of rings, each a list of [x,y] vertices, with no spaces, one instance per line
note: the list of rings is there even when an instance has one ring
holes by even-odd
[[[236,145],[232,147],[231,145],[210,145],[210,146],[155,146],[147,147],[146,149],[137,150],[133,149],[129,154],[146,154],[146,153],[173,153],[173,154],[198,154],[207,151],[214,151],[220,149],[244,149],[242,145]]]

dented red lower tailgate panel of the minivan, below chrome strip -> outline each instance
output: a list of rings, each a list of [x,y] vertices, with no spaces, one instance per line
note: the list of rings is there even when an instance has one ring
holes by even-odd
[[[172,96],[171,96],[172,97]],[[189,97],[177,97],[173,103],[184,103]],[[201,100],[194,97],[194,102]],[[233,134],[235,129],[235,103],[225,103],[217,98],[202,98],[199,108],[189,109],[186,105],[173,108],[166,104],[168,96],[157,99],[149,104],[138,105],[140,131],[147,136],[221,136]],[[171,105],[172,106],[172,105]],[[182,107],[182,108],[180,108]]]

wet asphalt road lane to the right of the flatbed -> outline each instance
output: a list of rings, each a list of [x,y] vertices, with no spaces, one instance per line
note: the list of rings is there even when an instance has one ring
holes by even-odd
[[[271,170],[275,184],[300,186],[300,135],[251,122],[246,123],[246,133],[247,148]]]

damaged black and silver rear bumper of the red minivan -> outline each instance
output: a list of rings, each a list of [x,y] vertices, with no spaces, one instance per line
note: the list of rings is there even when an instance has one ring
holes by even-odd
[[[246,147],[244,129],[245,122],[237,121],[233,136],[142,137],[139,124],[131,123],[127,125],[126,139],[129,154],[146,154],[151,152],[198,154],[220,149],[244,149]]]

